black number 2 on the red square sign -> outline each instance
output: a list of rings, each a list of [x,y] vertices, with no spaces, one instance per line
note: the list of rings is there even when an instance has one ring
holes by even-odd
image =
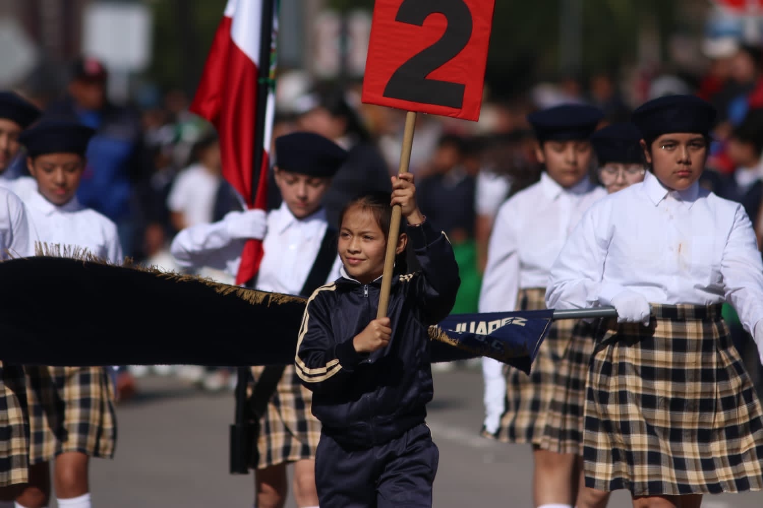
[[[435,13],[445,15],[448,22],[445,34],[394,72],[384,96],[460,109],[466,85],[427,76],[461,53],[472,38],[472,12],[468,5],[464,0],[404,0],[395,21],[421,27],[429,15]]]

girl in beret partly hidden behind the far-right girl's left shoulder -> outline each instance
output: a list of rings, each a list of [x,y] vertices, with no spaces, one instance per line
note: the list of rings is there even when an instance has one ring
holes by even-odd
[[[515,194],[498,212],[488,246],[480,312],[544,308],[549,270],[565,239],[583,212],[606,195],[589,178],[594,155],[589,138],[603,116],[596,107],[564,104],[528,117],[538,140],[536,155],[546,171],[537,184]],[[573,327],[575,321],[570,320],[553,324],[530,376],[510,369],[507,382],[503,364],[487,358],[482,364],[485,435],[533,446],[535,502],[546,508],[571,508],[578,490],[578,429],[563,435],[557,432],[546,439],[544,448],[540,446],[556,371],[571,343]],[[582,414],[582,407],[577,411]]]

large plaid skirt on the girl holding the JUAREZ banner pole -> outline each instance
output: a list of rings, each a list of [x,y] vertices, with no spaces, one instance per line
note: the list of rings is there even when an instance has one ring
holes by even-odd
[[[721,306],[602,322],[588,375],[585,483],[633,496],[763,488],[763,412]]]

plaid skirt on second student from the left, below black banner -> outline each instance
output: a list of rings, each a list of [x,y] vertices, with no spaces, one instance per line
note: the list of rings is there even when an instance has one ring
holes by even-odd
[[[112,458],[117,438],[114,391],[106,367],[26,366],[29,462],[65,452]]]

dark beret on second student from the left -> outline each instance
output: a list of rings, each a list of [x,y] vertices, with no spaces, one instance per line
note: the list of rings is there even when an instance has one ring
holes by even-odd
[[[42,120],[18,136],[31,157],[49,153],[85,155],[95,130],[70,120]]]

